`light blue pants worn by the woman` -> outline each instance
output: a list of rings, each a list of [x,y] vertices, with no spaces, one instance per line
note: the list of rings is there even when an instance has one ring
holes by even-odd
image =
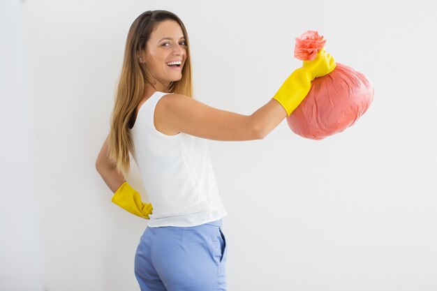
[[[221,219],[191,227],[146,227],[135,253],[141,291],[226,290]]]

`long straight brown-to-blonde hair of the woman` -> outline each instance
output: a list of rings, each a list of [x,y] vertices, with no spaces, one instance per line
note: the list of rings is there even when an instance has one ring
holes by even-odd
[[[191,80],[191,57],[188,33],[182,20],[166,10],[149,10],[138,16],[128,31],[124,61],[117,86],[114,110],[111,115],[111,128],[108,138],[109,157],[117,171],[126,175],[130,168],[129,151],[133,151],[133,141],[129,135],[135,117],[135,109],[142,99],[145,82],[151,84],[151,75],[145,63],[140,63],[140,52],[147,47],[151,32],[163,20],[175,20],[184,33],[186,40],[186,61],[182,68],[182,78],[170,84],[170,93],[182,94],[193,98]],[[147,54],[147,52],[145,52]]]

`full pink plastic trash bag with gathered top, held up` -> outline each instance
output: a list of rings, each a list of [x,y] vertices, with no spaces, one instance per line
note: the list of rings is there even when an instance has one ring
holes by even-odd
[[[312,60],[325,42],[317,31],[306,31],[296,38],[295,57]],[[287,123],[297,135],[323,140],[355,124],[372,100],[371,81],[353,68],[336,62],[331,73],[311,82],[309,93],[287,117]]]

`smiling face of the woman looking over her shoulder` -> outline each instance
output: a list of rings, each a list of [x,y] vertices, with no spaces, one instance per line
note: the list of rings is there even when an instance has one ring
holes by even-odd
[[[168,90],[170,82],[181,80],[186,60],[186,43],[181,27],[174,20],[164,20],[155,27],[146,46],[145,64],[156,81],[158,91]],[[181,61],[169,65],[172,61]]]

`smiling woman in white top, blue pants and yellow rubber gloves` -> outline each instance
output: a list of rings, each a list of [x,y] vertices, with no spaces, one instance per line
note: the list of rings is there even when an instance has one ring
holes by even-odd
[[[179,17],[154,10],[133,22],[96,169],[114,192],[112,202],[149,219],[135,254],[142,291],[226,290],[221,218],[227,212],[207,139],[263,139],[302,102],[311,80],[334,68],[323,49],[250,116],[218,110],[193,99],[188,34]],[[151,204],[124,178],[129,151]]]

